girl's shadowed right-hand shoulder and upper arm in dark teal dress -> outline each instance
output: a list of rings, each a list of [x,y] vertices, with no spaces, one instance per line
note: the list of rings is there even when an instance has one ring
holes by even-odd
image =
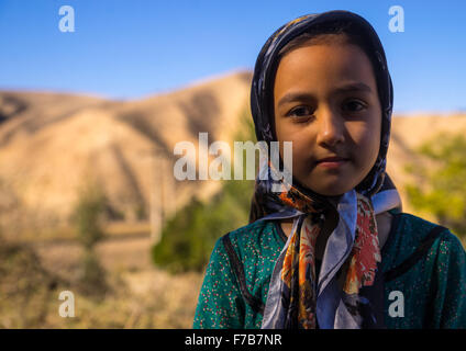
[[[466,252],[459,239],[446,227],[398,213],[388,240],[381,260],[387,327],[465,328]],[[388,309],[393,292],[402,297],[403,318]]]

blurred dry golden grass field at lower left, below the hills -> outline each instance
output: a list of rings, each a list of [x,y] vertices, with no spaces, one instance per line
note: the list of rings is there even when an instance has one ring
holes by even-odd
[[[18,252],[5,252],[9,247]],[[202,274],[173,276],[153,268],[149,247],[149,238],[100,244],[97,252],[110,291],[91,297],[78,284],[81,252],[77,245],[3,244],[0,293],[7,298],[0,301],[0,327],[190,328]],[[58,296],[65,290],[75,295],[74,318],[58,314],[63,303]]]

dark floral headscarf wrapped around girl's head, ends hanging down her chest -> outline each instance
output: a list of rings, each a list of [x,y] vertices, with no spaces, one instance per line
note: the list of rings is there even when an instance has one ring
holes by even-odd
[[[370,328],[381,327],[381,261],[375,215],[401,210],[399,194],[386,173],[390,138],[392,84],[381,43],[371,25],[347,11],[308,14],[278,29],[265,43],[255,65],[251,109],[258,141],[276,141],[273,87],[278,53],[295,37],[329,29],[344,29],[366,45],[376,76],[382,122],[377,160],[367,177],[347,193],[329,197],[280,179],[282,167],[259,166],[249,222],[293,218],[291,234],[275,263],[263,318],[263,328]],[[314,31],[314,32],[313,32]],[[330,30],[331,31],[331,30]],[[322,33],[322,32],[321,32]],[[277,180],[279,179],[279,180]],[[273,186],[281,189],[273,191]],[[324,224],[336,218],[315,280],[315,241]],[[343,286],[341,268],[348,262]]]

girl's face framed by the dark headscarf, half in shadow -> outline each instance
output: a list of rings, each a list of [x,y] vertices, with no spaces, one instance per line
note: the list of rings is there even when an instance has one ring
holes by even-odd
[[[293,177],[336,196],[373,168],[380,147],[381,107],[373,67],[352,44],[317,44],[281,58],[274,87],[277,139],[292,141]]]

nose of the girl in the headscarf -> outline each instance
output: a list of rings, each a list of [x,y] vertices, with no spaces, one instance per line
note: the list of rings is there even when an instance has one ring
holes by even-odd
[[[318,116],[319,134],[317,141],[321,146],[334,146],[344,140],[342,117],[331,109],[324,109]]]

